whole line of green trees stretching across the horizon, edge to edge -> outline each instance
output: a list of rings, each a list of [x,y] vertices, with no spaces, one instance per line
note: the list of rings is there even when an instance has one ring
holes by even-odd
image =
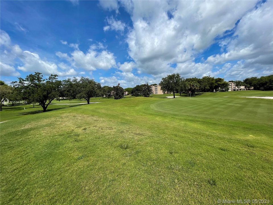
[[[25,78],[18,78],[18,81],[12,82],[12,86],[6,85],[3,81],[0,81],[0,99],[1,110],[2,100],[9,99],[11,104],[18,99],[25,100],[28,104],[39,103],[43,111],[45,112],[48,105],[54,100],[61,98],[67,99],[85,99],[87,104],[90,103],[92,97],[107,97],[114,99],[121,99],[124,96],[124,92],[133,96],[149,97],[152,93],[150,89],[151,85],[142,84],[136,85],[133,88],[123,89],[118,84],[117,86],[101,86],[100,83],[89,79],[87,77],[81,77],[77,79],[66,79],[63,81],[58,80],[57,75],[50,75],[47,79],[43,78],[42,73],[35,72],[34,74],[27,75]],[[247,89],[253,87],[254,90],[273,90],[273,75],[250,77],[243,81],[232,81],[236,83],[236,86],[245,86]],[[152,84],[157,85],[157,84]],[[196,92],[217,92],[228,91],[228,82],[223,78],[214,78],[211,76],[204,76],[202,78],[184,78],[179,73],[173,73],[163,77],[159,83],[162,91],[173,93],[191,93],[195,96]]]

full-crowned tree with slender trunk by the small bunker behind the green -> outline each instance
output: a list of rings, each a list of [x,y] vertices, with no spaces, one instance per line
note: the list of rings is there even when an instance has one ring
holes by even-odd
[[[173,73],[162,78],[159,85],[163,91],[173,92],[173,98],[175,98],[175,92],[179,91],[180,81],[179,73]]]

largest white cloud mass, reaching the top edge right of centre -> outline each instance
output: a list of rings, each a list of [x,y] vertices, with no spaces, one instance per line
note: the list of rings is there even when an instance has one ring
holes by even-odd
[[[157,76],[176,72],[171,64],[193,61],[216,37],[233,29],[237,20],[255,4],[255,1],[121,3],[133,21],[133,28],[127,35],[129,55],[142,73]],[[207,73],[207,67],[203,71],[200,69],[198,75]]]

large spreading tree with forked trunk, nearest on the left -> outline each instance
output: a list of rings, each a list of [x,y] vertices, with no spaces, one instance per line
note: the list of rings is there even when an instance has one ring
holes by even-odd
[[[15,87],[22,92],[24,99],[32,102],[38,102],[43,112],[46,112],[48,105],[54,100],[60,100],[61,81],[57,75],[50,75],[43,79],[42,73],[35,72],[27,75],[26,78],[18,78],[13,82]]]

